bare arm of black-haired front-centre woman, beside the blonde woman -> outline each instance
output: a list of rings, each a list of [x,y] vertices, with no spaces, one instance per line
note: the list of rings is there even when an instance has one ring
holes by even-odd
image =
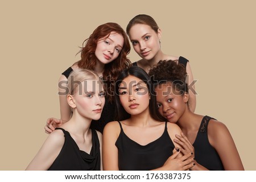
[[[115,146],[121,129],[118,122],[109,122],[103,131],[103,169],[118,171],[118,149]]]

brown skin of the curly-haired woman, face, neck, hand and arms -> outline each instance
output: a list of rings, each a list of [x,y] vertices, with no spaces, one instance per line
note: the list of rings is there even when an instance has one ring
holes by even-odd
[[[204,116],[192,113],[188,109],[188,94],[174,94],[172,91],[170,94],[166,94],[167,87],[170,89],[171,84],[162,84],[155,88],[160,114],[166,117],[169,122],[176,123],[180,127],[182,133],[176,135],[177,139],[174,139],[174,141],[185,149],[185,151],[181,149],[181,152],[187,154],[188,151],[192,151],[195,154],[196,151],[192,143],[195,142],[201,120]],[[225,170],[244,170],[236,144],[224,123],[210,119],[208,139],[212,147],[218,152]],[[191,168],[192,170],[208,170],[196,161],[195,163],[196,165]]]

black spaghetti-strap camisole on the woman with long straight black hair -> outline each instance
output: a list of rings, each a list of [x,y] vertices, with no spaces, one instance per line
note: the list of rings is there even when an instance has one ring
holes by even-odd
[[[118,148],[118,167],[120,171],[144,171],[162,167],[166,160],[172,155],[175,146],[168,131],[167,122],[160,138],[142,146],[131,140],[121,132],[115,142]]]

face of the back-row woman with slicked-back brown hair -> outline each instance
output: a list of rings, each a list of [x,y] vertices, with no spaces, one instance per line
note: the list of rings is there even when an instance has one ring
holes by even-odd
[[[142,59],[151,60],[160,50],[160,32],[156,33],[147,24],[134,24],[129,32],[134,51]]]

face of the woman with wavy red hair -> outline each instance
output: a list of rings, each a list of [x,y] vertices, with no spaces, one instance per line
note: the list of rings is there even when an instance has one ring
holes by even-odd
[[[98,61],[101,64],[108,64],[117,59],[124,41],[123,36],[117,32],[111,32],[108,37],[100,39],[95,50]]]

